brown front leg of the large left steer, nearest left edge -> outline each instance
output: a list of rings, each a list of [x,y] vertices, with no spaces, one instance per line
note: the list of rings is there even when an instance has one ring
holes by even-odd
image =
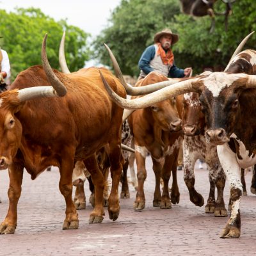
[[[10,185],[8,189],[9,209],[4,221],[0,225],[0,234],[13,234],[17,226],[17,205],[21,193],[23,168],[18,164],[12,164],[8,173]]]

